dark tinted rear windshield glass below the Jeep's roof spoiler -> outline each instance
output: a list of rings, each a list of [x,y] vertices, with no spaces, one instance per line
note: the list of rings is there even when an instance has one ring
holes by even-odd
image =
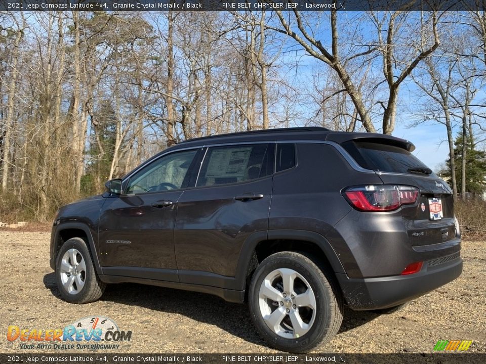
[[[352,142],[345,149],[361,167],[383,172],[410,173],[411,168],[428,167],[409,151],[385,144]]]

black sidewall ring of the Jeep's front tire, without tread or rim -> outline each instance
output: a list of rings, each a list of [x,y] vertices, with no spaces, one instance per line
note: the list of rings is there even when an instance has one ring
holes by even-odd
[[[66,253],[67,250],[69,249],[76,249],[82,256],[83,259],[85,260],[86,263],[86,276],[85,276],[85,285],[83,288],[76,294],[71,294],[69,293],[63,286],[62,281],[61,281],[61,261],[63,255]],[[91,280],[93,279],[93,264],[91,262],[91,255],[88,250],[88,247],[86,246],[86,243],[83,239],[81,238],[71,238],[68,241],[66,241],[62,246],[61,249],[59,250],[59,253],[57,254],[57,260],[56,260],[56,282],[57,282],[57,288],[59,292],[61,293],[62,298],[71,303],[79,303],[83,302],[88,294],[89,287],[91,286]]]

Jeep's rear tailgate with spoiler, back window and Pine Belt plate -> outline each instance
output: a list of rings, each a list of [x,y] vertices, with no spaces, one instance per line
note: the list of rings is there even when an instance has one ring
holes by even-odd
[[[403,222],[413,246],[447,242],[456,238],[454,201],[449,186],[409,152],[410,142],[388,138],[348,140],[342,146],[363,168],[374,170],[383,183],[414,186],[419,197],[404,205]]]

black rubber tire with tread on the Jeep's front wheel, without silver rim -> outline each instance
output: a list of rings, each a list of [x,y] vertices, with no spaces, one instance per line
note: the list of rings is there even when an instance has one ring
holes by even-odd
[[[75,281],[72,287],[76,290],[73,292],[69,292],[63,284],[63,277],[66,278],[68,276],[64,275],[61,269],[63,257],[70,249],[75,249],[77,251],[76,260],[84,260],[84,265],[86,266],[84,269],[79,268],[79,279],[80,282],[84,282],[84,285],[78,288]],[[72,264],[72,259],[68,259],[68,263]],[[81,238],[71,238],[61,246],[61,249],[57,254],[55,273],[57,288],[61,293],[61,297],[63,300],[70,303],[82,304],[97,301],[106,287],[106,284],[101,282],[96,274],[88,245]]]

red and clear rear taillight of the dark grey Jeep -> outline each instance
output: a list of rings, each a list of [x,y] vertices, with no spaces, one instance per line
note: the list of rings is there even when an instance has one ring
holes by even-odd
[[[368,185],[350,187],[343,195],[360,211],[392,211],[401,205],[414,204],[419,190],[411,186]]]

